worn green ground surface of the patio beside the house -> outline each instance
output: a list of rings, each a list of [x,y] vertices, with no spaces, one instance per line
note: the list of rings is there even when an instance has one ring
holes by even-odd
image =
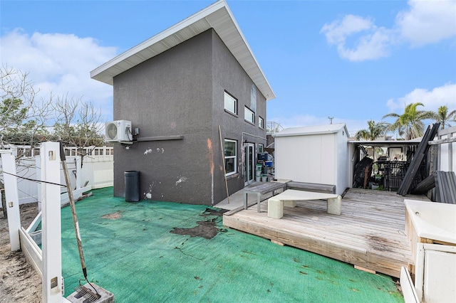
[[[224,228],[217,208],[103,188],[76,209],[88,279],[116,302],[403,302],[389,276]],[[67,297],[83,278],[69,207],[62,267]]]

